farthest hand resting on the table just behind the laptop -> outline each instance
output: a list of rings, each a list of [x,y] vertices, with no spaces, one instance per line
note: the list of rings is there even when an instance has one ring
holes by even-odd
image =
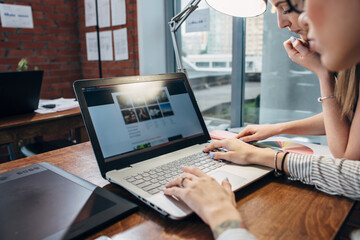
[[[280,134],[280,126],[277,124],[248,125],[236,138],[244,142],[254,142]]]

